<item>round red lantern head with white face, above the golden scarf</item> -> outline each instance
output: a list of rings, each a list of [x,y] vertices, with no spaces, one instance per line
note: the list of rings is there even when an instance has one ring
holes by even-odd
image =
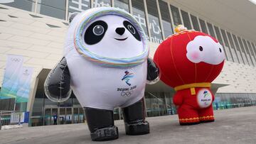
[[[154,62],[161,70],[161,80],[171,87],[213,82],[225,60],[218,40],[198,31],[181,31],[159,45]]]

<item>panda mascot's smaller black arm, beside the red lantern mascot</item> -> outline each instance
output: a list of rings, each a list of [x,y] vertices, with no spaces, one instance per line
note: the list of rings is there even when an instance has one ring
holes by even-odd
[[[154,84],[159,81],[159,68],[151,58],[147,59],[147,74],[146,80],[148,84]]]

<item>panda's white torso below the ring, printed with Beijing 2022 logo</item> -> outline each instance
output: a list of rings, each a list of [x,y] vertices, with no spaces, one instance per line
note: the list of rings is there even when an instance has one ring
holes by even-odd
[[[113,110],[142,99],[146,84],[146,62],[134,67],[105,67],[85,60],[75,50],[65,56],[71,87],[83,107]],[[129,72],[128,84],[125,72]]]

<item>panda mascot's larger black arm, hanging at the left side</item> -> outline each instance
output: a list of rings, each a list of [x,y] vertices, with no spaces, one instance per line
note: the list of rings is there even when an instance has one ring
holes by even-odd
[[[65,101],[71,94],[70,72],[65,57],[50,71],[44,84],[46,96],[53,101]]]

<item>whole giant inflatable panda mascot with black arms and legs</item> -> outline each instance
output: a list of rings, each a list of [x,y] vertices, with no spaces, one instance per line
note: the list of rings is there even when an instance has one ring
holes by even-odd
[[[101,7],[70,16],[64,57],[50,71],[46,96],[65,101],[71,89],[85,110],[92,140],[118,138],[113,109],[122,108],[127,135],[149,133],[146,82],[159,78],[142,26],[126,11]]]

